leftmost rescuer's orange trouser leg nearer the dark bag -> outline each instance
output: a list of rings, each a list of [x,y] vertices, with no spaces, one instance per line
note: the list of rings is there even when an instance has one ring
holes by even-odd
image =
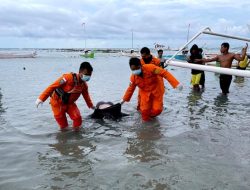
[[[82,125],[81,113],[75,103],[68,105],[67,113],[69,117],[73,120],[73,127],[79,128]]]

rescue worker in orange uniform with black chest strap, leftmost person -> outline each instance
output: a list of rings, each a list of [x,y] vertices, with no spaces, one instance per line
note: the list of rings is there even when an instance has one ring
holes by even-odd
[[[79,73],[63,74],[54,83],[47,87],[36,100],[36,106],[45,102],[50,96],[50,105],[54,118],[61,129],[68,127],[66,113],[73,120],[73,128],[78,130],[82,124],[80,111],[75,103],[80,95],[87,106],[95,109],[89,96],[87,81],[90,80],[93,68],[89,62],[80,65]]]

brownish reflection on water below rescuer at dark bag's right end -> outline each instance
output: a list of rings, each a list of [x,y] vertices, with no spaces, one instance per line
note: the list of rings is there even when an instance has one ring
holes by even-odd
[[[156,152],[155,141],[162,136],[157,119],[144,123],[137,129],[136,137],[127,139],[128,147],[125,154],[141,162],[158,160],[161,156]]]

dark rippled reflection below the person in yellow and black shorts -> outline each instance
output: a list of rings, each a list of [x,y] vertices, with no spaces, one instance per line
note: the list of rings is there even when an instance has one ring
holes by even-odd
[[[189,126],[195,129],[199,129],[203,125],[201,119],[208,108],[208,105],[202,101],[202,93],[203,91],[191,91],[187,96]]]

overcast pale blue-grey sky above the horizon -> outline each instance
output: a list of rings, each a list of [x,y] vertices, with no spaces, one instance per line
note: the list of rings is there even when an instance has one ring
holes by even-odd
[[[180,47],[209,26],[250,38],[248,0],[0,0],[0,48]],[[85,23],[82,24],[82,23]],[[84,26],[86,32],[84,32]],[[200,45],[224,38],[203,35]]]

